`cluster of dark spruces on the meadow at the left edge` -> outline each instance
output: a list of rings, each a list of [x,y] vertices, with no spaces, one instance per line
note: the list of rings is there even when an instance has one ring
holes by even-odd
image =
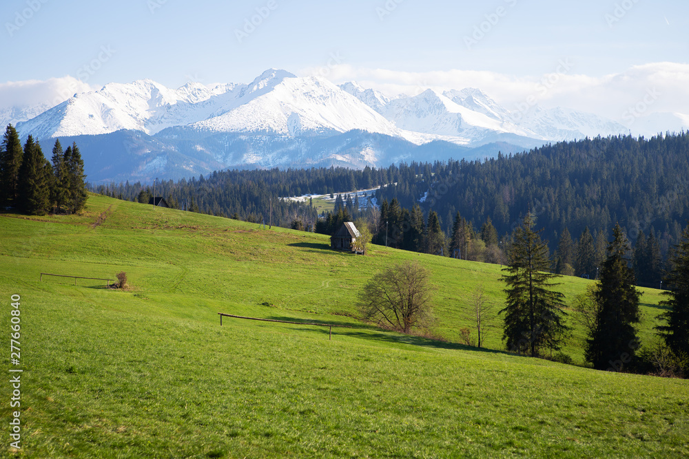
[[[0,207],[30,215],[81,211],[86,203],[86,175],[76,143],[63,151],[59,140],[52,164],[39,142],[29,135],[23,147],[8,125],[0,145]]]

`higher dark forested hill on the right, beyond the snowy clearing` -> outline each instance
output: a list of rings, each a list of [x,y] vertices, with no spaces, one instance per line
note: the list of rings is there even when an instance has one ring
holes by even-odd
[[[411,208],[435,210],[449,233],[457,211],[480,228],[491,217],[500,235],[531,209],[551,250],[568,228],[608,235],[616,222],[634,241],[651,229],[666,252],[689,220],[689,134],[560,142],[485,162],[402,164],[398,184],[378,191]],[[422,199],[423,200],[423,199]]]

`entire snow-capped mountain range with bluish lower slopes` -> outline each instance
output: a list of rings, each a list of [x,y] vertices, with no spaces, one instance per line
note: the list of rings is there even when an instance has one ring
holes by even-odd
[[[32,134],[44,144],[56,137],[86,142],[97,154],[98,165],[87,171],[94,181],[227,167],[380,167],[400,160],[482,158],[628,133],[617,122],[570,109],[534,106],[515,113],[480,89],[426,89],[389,98],[355,82],[338,86],[275,69],[248,85],[111,83],[55,107],[0,111],[0,120],[21,120],[21,136]],[[689,120],[678,114],[670,121]],[[131,170],[116,165],[123,157]]]

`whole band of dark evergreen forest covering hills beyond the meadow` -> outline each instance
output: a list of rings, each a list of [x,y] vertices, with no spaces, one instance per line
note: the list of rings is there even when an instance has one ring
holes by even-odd
[[[218,171],[205,178],[158,182],[156,194],[173,205],[187,200],[187,209],[258,222],[267,217],[272,201],[273,224],[290,226],[300,219],[308,226],[317,218],[313,208],[277,198],[344,194],[381,184],[390,185],[377,192],[378,202],[397,198],[407,209],[419,203],[424,217],[434,210],[448,236],[457,211],[476,230],[490,217],[502,237],[531,210],[551,250],[564,228],[575,239],[587,226],[593,235],[607,238],[619,222],[632,242],[639,231],[649,235],[652,229],[666,255],[689,221],[689,134],[562,142],[484,162],[412,162],[360,171]],[[148,202],[146,188],[127,183],[94,191],[127,200],[138,195]]]

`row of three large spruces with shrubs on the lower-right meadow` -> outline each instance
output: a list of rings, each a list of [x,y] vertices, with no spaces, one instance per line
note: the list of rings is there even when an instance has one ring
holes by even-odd
[[[559,350],[568,339],[564,324],[564,295],[553,290],[558,275],[548,272],[548,250],[534,231],[533,215],[524,217],[508,244],[503,339],[508,350],[540,356],[545,349]],[[636,324],[641,320],[635,288],[631,249],[621,226],[613,228],[613,239],[599,265],[599,280],[575,299],[575,320],[586,330],[585,359],[597,370],[654,372],[668,376],[689,374],[689,226],[673,251],[672,268],[665,277],[668,290],[660,306],[663,325],[657,334],[664,345],[641,348]]]

